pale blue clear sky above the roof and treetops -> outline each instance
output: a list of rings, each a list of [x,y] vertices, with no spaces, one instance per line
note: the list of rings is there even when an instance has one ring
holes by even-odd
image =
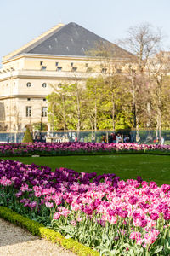
[[[129,26],[150,22],[167,35],[170,0],[0,0],[0,59],[59,22],[76,22],[114,42]]]

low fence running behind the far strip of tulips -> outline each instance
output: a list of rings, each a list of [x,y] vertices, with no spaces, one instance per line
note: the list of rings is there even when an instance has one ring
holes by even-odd
[[[95,142],[95,143],[112,143],[113,131],[39,131],[34,132],[32,137],[37,142]],[[162,130],[161,137],[156,137],[156,131],[117,131],[116,135],[120,134],[122,142],[125,142],[125,137],[129,137],[129,143],[164,143],[170,144],[170,130]],[[21,143],[24,137],[24,132],[0,132],[0,143]]]

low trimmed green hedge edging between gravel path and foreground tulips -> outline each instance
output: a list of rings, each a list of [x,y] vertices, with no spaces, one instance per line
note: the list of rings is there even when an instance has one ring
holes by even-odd
[[[65,249],[71,250],[73,253],[77,253],[80,256],[99,256],[99,252],[94,251],[91,248],[83,246],[81,243],[69,238],[66,239],[64,236],[44,227],[42,224],[37,223],[34,220],[23,217],[17,212],[10,210],[8,207],[0,207],[0,218],[8,220],[12,224],[16,224],[21,228],[25,228],[30,231],[34,236],[40,236],[53,241],[58,245],[65,247]]]

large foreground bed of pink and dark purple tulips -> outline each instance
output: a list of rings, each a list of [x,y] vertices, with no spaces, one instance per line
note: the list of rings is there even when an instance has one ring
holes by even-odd
[[[0,186],[1,206],[105,255],[170,253],[170,185],[0,160]]]

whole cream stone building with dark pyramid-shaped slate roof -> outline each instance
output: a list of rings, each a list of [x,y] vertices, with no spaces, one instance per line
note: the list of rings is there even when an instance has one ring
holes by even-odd
[[[85,83],[109,68],[97,52],[109,46],[116,73],[130,54],[76,23],[59,24],[3,57],[0,69],[0,131],[23,131],[26,125],[48,124],[46,96],[62,83]],[[95,52],[95,54],[94,54]],[[117,64],[118,63],[118,64]]]

